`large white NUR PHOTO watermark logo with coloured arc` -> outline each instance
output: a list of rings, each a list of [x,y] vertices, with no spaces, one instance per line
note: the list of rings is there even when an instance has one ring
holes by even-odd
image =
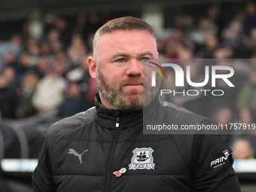
[[[174,90],[169,90],[169,87],[162,86],[160,96],[169,93],[173,93],[173,96],[177,94],[179,96],[206,96],[207,93],[212,93],[213,96],[222,96],[224,95],[223,84],[226,87],[235,87],[231,82],[234,69],[231,67],[232,65],[229,65],[227,59],[153,59],[147,61],[147,66],[155,69],[151,71],[151,87],[157,87],[157,77],[161,77],[163,81],[166,81],[166,85],[170,83],[170,85],[175,86]],[[195,78],[196,69],[198,70],[196,73],[200,75],[200,78]],[[167,78],[167,75],[169,75],[167,72],[171,72],[174,78]],[[166,80],[164,80],[163,75],[165,75]],[[182,90],[182,87],[184,87],[184,90]],[[190,89],[187,90],[187,87]],[[191,87],[194,88],[191,89]],[[212,90],[209,87],[216,88]]]

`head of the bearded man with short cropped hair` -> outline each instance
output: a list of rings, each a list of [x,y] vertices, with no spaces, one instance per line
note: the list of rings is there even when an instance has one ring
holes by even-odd
[[[109,21],[96,32],[93,52],[90,75],[106,108],[135,111],[151,102],[157,89],[151,89],[151,71],[143,75],[143,62],[157,59],[158,53],[148,23],[134,17]]]

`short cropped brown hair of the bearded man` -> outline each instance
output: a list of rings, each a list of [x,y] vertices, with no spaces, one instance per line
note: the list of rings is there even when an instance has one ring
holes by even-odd
[[[144,20],[141,20],[137,17],[120,17],[114,20],[110,20],[105,23],[102,27],[100,27],[93,38],[93,56],[95,56],[96,46],[98,44],[99,38],[104,35],[111,33],[115,30],[142,30],[148,31],[150,35],[156,40],[154,35],[154,28],[146,23]]]

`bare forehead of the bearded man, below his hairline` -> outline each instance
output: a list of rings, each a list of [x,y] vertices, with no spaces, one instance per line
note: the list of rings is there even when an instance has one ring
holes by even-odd
[[[157,44],[146,30],[115,30],[99,38],[99,50],[126,50],[133,46],[133,50],[157,50]]]

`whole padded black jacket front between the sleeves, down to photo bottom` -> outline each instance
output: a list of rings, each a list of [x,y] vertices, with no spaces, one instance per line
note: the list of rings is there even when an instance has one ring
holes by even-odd
[[[108,156],[116,130],[102,129],[99,126],[94,130],[81,127],[69,133],[56,146],[52,167],[53,178],[59,185],[59,191],[76,191],[75,187],[68,189],[66,182],[72,182],[73,186],[77,183],[80,189],[81,184],[90,189],[105,186]],[[129,169],[134,156],[133,150],[136,148],[154,150],[152,152],[154,169]],[[69,154],[69,149],[74,149],[78,154],[88,151],[84,152],[79,160],[75,154]],[[122,188],[129,189],[127,191],[156,191],[160,186],[169,188],[177,185],[178,187],[180,182],[184,183],[182,191],[189,191],[187,186],[190,186],[190,175],[187,166],[175,141],[170,136],[143,135],[138,127],[121,130],[117,148],[114,151],[111,172],[121,168],[125,168],[126,172],[120,178],[114,174],[111,175],[111,188],[114,191],[123,191]]]

